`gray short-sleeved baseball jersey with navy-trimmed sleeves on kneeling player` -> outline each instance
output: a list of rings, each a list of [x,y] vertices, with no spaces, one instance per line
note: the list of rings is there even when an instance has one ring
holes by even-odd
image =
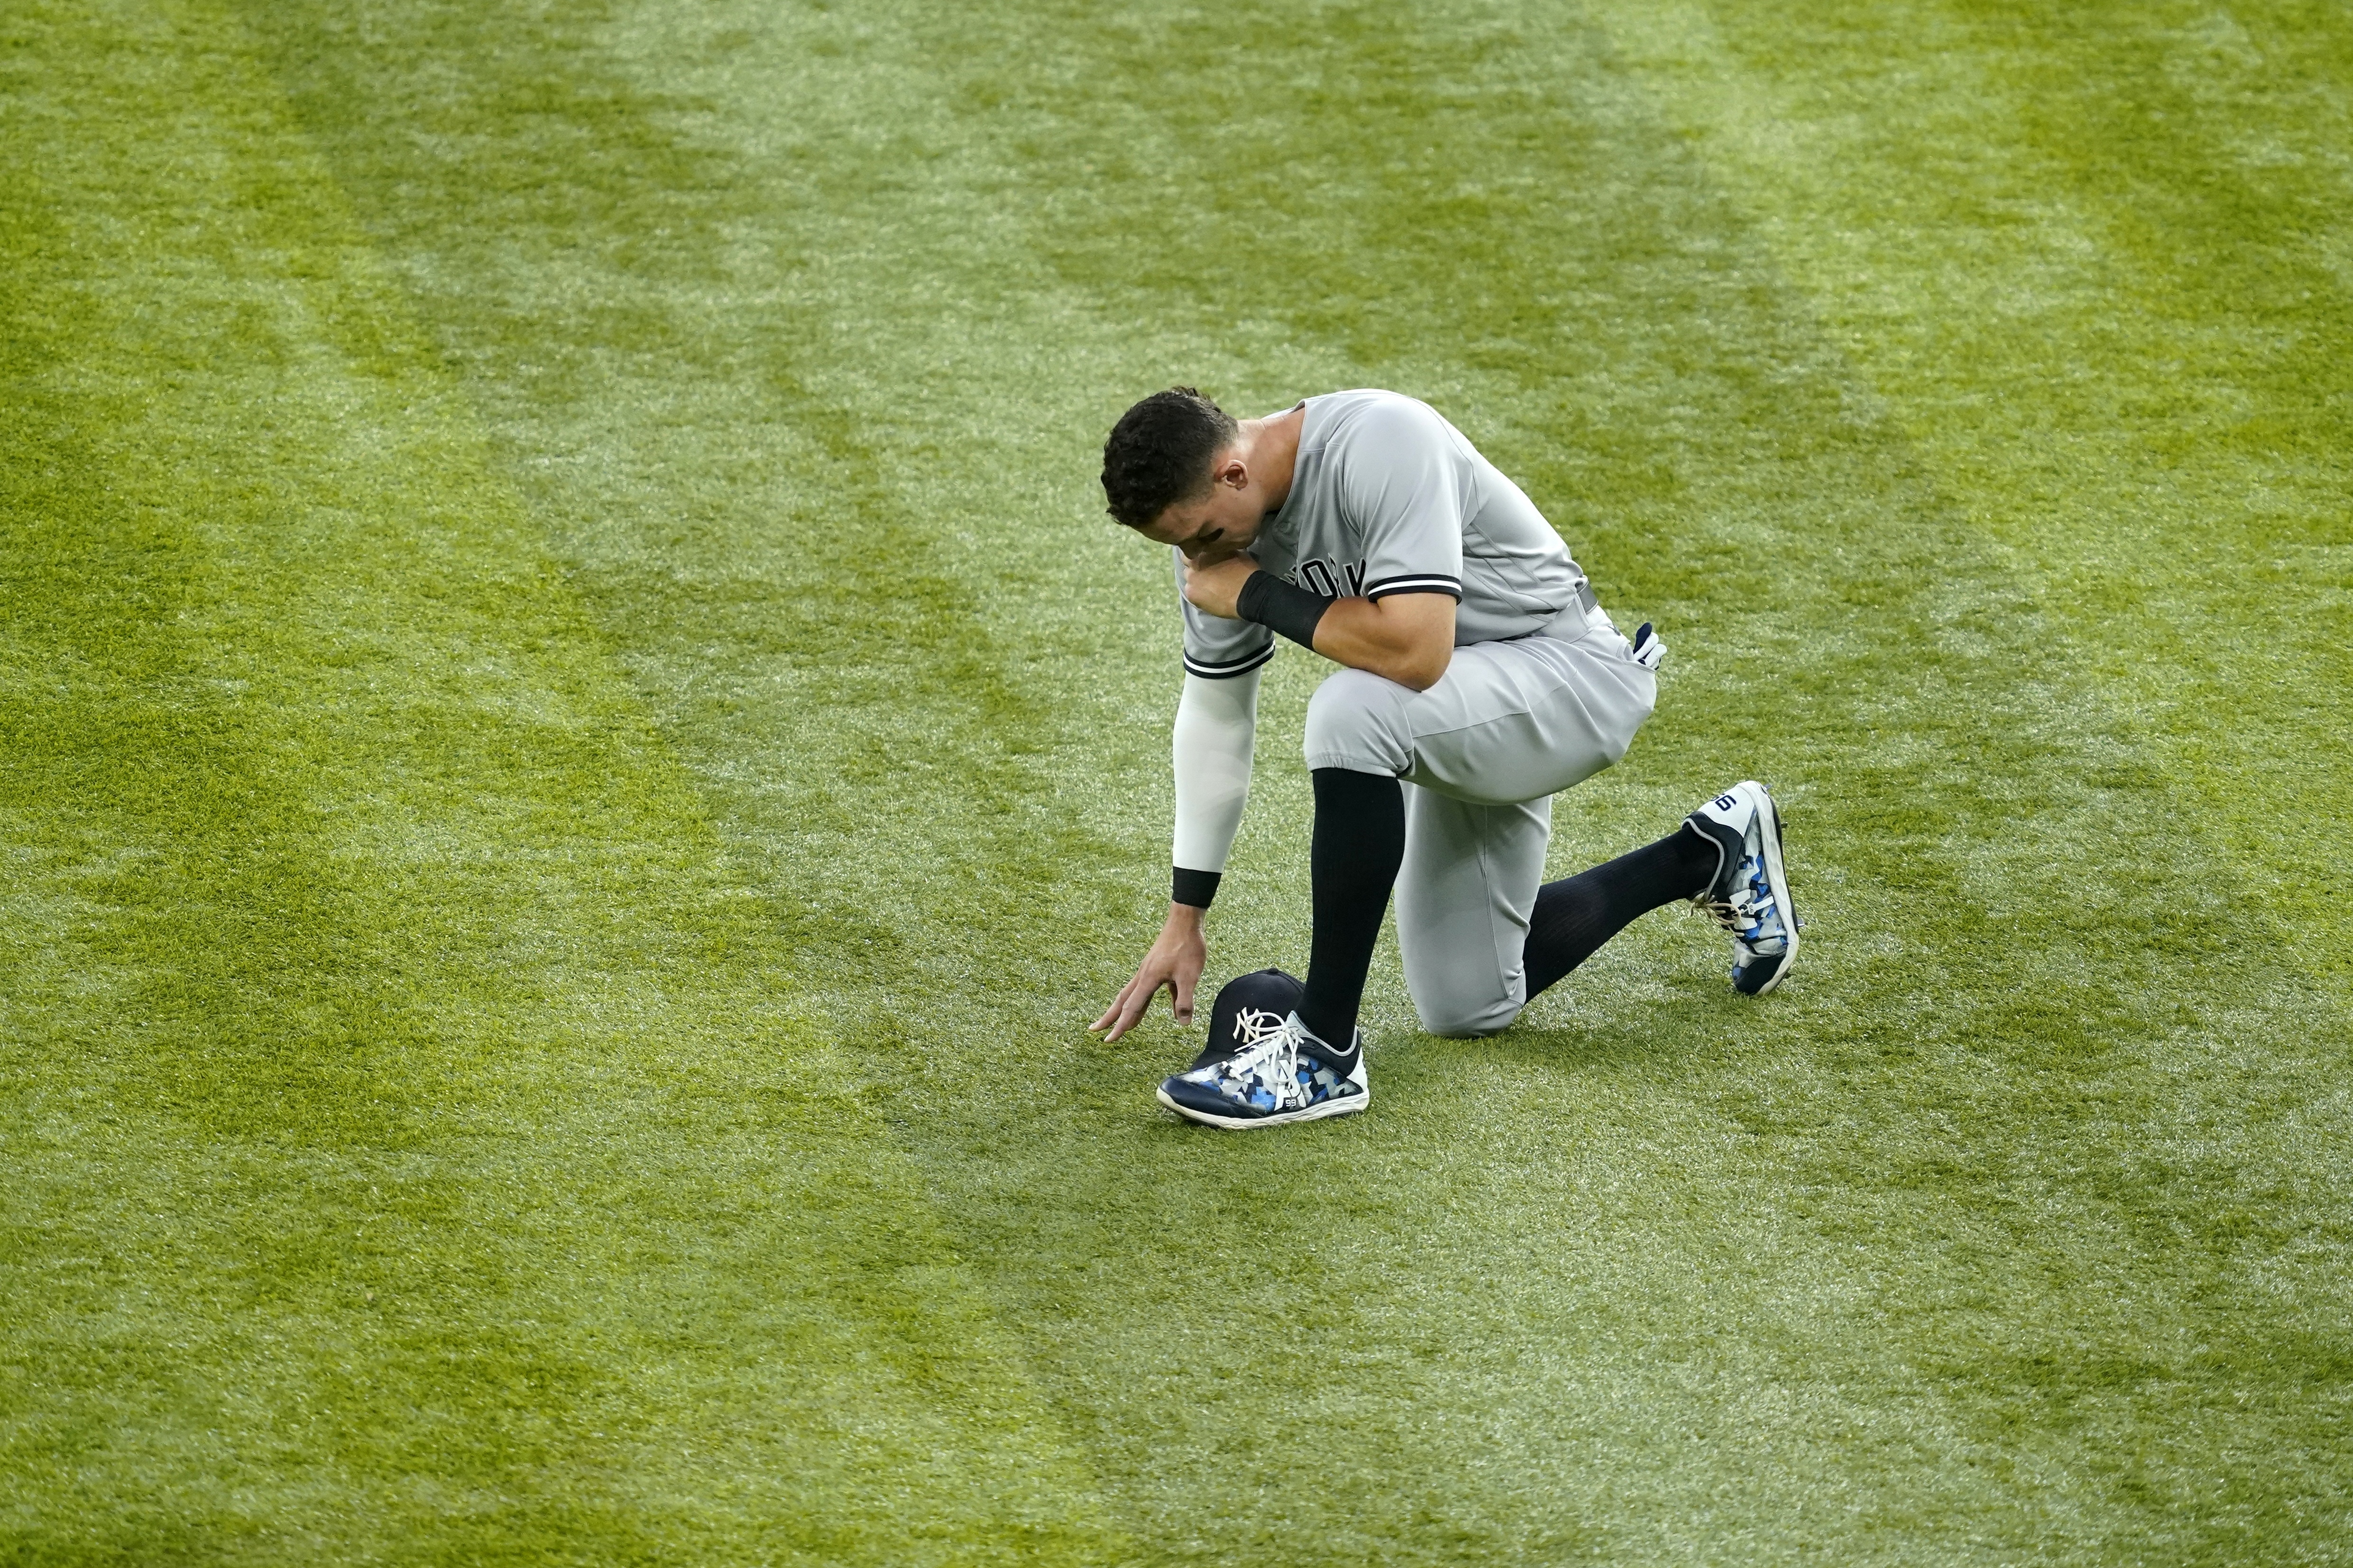
[[[1537,504],[1428,403],[1388,391],[1306,400],[1282,509],[1249,549],[1325,598],[1452,593],[1454,645],[1537,631],[1586,579]],[[1184,666],[1212,680],[1259,669],[1275,633],[1184,603]]]

